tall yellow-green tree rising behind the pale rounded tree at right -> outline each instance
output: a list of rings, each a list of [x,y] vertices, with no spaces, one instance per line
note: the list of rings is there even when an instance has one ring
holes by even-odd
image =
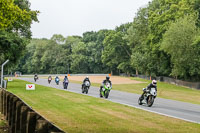
[[[160,49],[164,33],[171,23],[187,15],[195,14],[194,1],[190,0],[153,0],[148,6],[149,34],[147,43],[150,46],[151,59],[156,75],[170,73],[170,56]],[[154,62],[152,62],[154,61]]]

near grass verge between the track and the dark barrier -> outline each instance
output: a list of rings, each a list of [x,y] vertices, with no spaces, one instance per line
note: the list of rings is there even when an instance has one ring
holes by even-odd
[[[69,133],[181,133],[200,131],[199,124],[169,118],[100,98],[14,80],[8,90]]]

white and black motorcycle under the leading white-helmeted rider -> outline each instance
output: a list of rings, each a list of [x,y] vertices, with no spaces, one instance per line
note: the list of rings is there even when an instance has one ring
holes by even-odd
[[[138,104],[146,104],[148,107],[151,107],[154,103],[154,99],[157,96],[157,91],[155,88],[151,88],[151,90],[147,90],[146,88],[143,88],[143,91],[145,91],[144,96],[140,96],[138,99]]]

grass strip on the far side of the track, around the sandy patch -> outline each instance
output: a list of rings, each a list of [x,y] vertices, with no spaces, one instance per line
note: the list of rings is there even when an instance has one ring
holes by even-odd
[[[142,94],[142,88],[145,88],[150,80],[145,80],[141,78],[131,78],[132,80],[143,81],[144,83],[139,84],[113,84],[114,90],[120,90],[130,93]],[[112,81],[112,77],[111,77]],[[70,81],[73,83],[82,83],[79,81]],[[92,83],[92,86],[99,87],[100,84]],[[165,82],[158,82],[158,97],[173,99],[188,103],[200,104],[200,90],[191,89],[183,86],[177,86]]]

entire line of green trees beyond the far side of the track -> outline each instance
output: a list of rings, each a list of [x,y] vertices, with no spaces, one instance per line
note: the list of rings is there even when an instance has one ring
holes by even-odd
[[[152,0],[133,22],[82,36],[32,39],[23,73],[110,73],[200,79],[200,0]],[[69,68],[69,69],[68,69]]]

